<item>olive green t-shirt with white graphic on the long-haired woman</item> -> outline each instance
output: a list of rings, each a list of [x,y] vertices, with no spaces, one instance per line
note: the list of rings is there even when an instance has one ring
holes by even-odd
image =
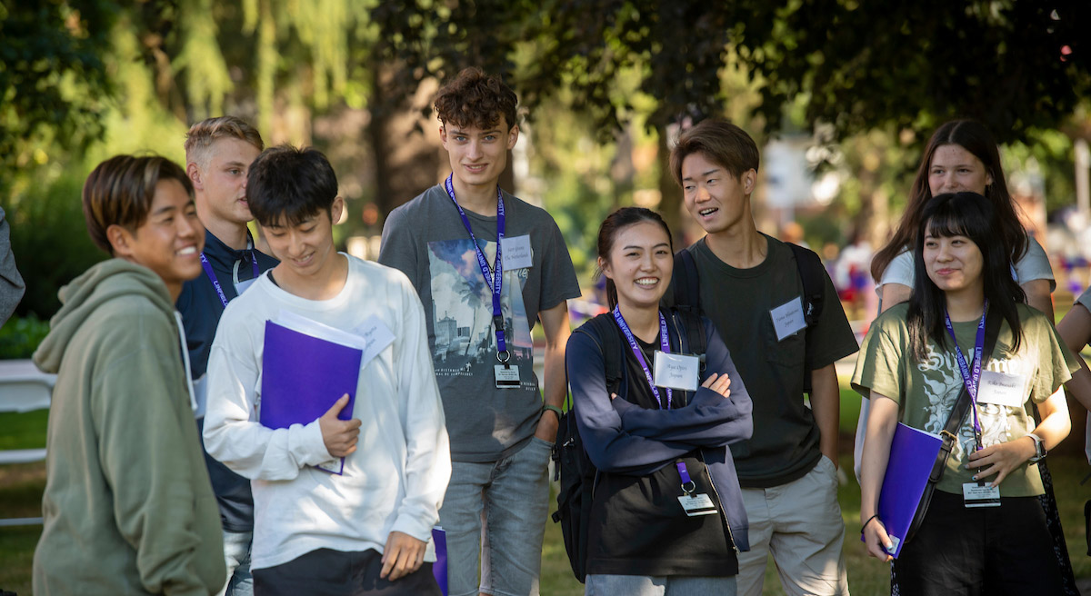
[[[908,304],[899,304],[872,324],[860,346],[852,387],[865,398],[874,392],[895,400],[899,422],[938,435],[962,390],[962,375],[949,337],[945,348],[930,340],[923,360],[912,356],[906,325],[908,311]],[[1023,401],[1019,406],[978,403],[985,447],[1019,439],[1033,430],[1036,424],[1031,402],[1045,401],[1079,369],[1076,356],[1060,341],[1045,315],[1020,304],[1019,320],[1023,330],[1019,351],[1010,353],[1014,338],[1010,327],[1004,323],[996,348],[982,369],[1014,376],[1009,378],[1021,377]],[[968,360],[972,358],[978,321],[955,323],[954,327],[962,353]],[[966,467],[972,450],[973,419],[968,415],[936,488],[962,494],[962,484],[972,482],[974,474]],[[1031,497],[1042,492],[1038,464],[1023,463],[1000,483],[1002,497]]]

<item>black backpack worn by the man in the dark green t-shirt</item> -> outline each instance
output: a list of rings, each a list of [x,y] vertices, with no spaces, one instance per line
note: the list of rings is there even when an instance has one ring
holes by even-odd
[[[826,296],[826,268],[817,253],[798,244],[786,242],[795,255],[795,268],[803,282],[803,319],[807,324],[807,332],[822,315],[823,301]],[[700,276],[697,264],[688,248],[682,248],[674,255],[674,307],[680,312],[702,314],[700,309]],[[804,363],[806,370],[803,377],[803,391],[811,392],[811,366]]]

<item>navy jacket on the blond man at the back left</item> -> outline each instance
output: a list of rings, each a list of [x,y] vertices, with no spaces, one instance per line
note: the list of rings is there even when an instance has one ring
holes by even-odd
[[[249,236],[249,232],[248,232]],[[252,243],[251,243],[252,244]],[[276,267],[279,261],[257,250],[236,251],[205,230],[205,258],[216,273],[216,280],[228,301],[235,300],[235,267],[238,263],[239,281],[253,278],[253,260],[257,259],[259,275]],[[190,350],[190,376],[195,380],[204,376],[208,368],[208,353],[216,337],[219,317],[224,314],[224,303],[216,293],[212,280],[202,270],[195,279],[182,284],[182,292],[176,303],[182,314],[185,342]],[[201,418],[199,426],[204,422]],[[203,441],[203,439],[202,439]],[[254,498],[250,492],[250,481],[228,470],[226,465],[205,453],[208,477],[219,504],[220,522],[228,532],[250,532],[254,526]]]

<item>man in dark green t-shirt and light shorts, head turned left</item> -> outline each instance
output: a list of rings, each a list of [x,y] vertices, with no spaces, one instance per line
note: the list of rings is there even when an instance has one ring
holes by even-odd
[[[719,120],[684,132],[671,150],[686,210],[706,232],[686,248],[699,304],[754,400],[754,436],[731,446],[753,547],[739,557],[739,593],[762,595],[772,555],[788,594],[846,596],[834,363],[856,352],[856,339],[825,269],[807,290],[807,261],[755,226],[758,161],[754,139]]]

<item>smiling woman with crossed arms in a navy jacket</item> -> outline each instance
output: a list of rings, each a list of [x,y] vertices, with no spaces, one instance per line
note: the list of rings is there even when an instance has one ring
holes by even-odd
[[[619,338],[606,341],[597,330],[606,326],[589,321],[566,350],[579,435],[599,469],[586,593],[733,595],[736,555],[750,545],[727,446],[751,437],[750,396],[710,321],[698,342],[707,346],[702,370],[685,354],[693,327],[659,308],[674,265],[659,215],[619,209],[603,221],[598,250],[613,309],[599,317]],[[616,392],[607,386],[604,345],[625,353]],[[696,391],[681,389],[687,385]]]

